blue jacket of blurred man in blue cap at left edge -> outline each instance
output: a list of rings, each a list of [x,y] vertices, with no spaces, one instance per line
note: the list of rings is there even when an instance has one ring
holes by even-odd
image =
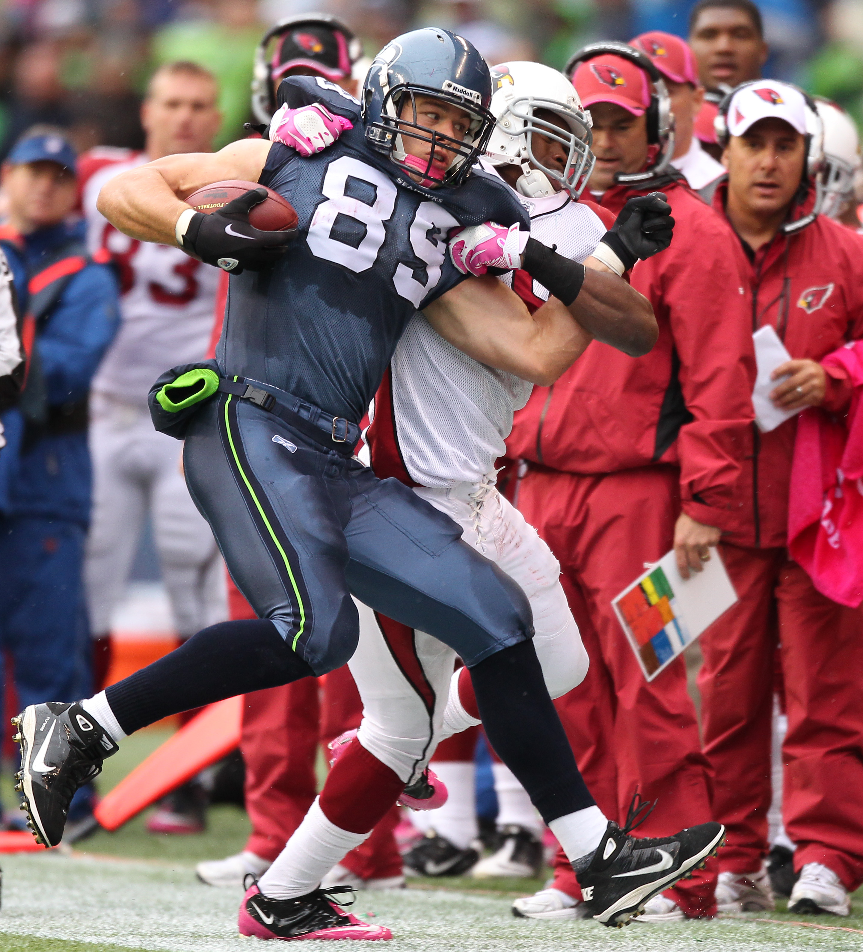
[[[10,268],[25,312],[28,288],[19,284],[24,275],[29,283],[64,248],[72,253],[77,244],[80,250],[83,240],[83,223],[41,228],[24,238],[17,250],[19,258],[10,259]],[[70,278],[36,336],[34,347],[49,409],[85,405],[90,381],[119,320],[113,270],[89,261]],[[87,526],[92,480],[86,425],[33,426],[18,408],[4,414],[3,422],[12,438],[0,453],[0,512],[7,517],[62,519]]]

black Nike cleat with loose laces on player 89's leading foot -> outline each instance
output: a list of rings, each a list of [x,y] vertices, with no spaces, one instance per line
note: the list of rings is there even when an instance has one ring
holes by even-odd
[[[701,823],[650,840],[630,836],[651,810],[636,793],[623,829],[609,823],[596,849],[573,863],[584,902],[603,925],[626,925],[652,896],[702,866],[725,838],[721,823]]]

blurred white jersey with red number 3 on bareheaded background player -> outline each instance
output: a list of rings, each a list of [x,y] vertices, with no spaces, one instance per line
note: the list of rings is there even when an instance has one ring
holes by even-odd
[[[145,406],[160,373],[203,360],[210,343],[218,268],[179,248],[139,242],[96,210],[99,190],[119,172],[147,162],[143,152],[91,149],[79,160],[87,244],[110,251],[120,269],[122,323],[93,378],[93,390]]]

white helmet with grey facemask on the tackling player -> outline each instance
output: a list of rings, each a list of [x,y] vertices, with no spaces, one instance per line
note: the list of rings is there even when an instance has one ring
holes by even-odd
[[[554,194],[553,179],[573,198],[578,198],[595,161],[591,151],[591,114],[582,109],[578,93],[566,76],[541,63],[492,66],[490,109],[497,122],[486,147],[486,158],[493,166],[521,167],[517,191],[528,198],[544,198]],[[569,130],[537,117],[540,109],[560,116]],[[536,160],[532,149],[534,132],[568,150],[562,172]]]

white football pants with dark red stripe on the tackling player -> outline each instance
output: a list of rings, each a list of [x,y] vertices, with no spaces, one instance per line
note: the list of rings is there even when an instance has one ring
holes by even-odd
[[[536,530],[488,478],[414,492],[462,526],[465,542],[524,589],[533,610],[533,645],[552,698],[581,684],[588,654],[558,581],[560,565]],[[359,645],[348,664],[363,700],[359,740],[413,783],[441,740],[455,653],[431,635],[357,607]]]

